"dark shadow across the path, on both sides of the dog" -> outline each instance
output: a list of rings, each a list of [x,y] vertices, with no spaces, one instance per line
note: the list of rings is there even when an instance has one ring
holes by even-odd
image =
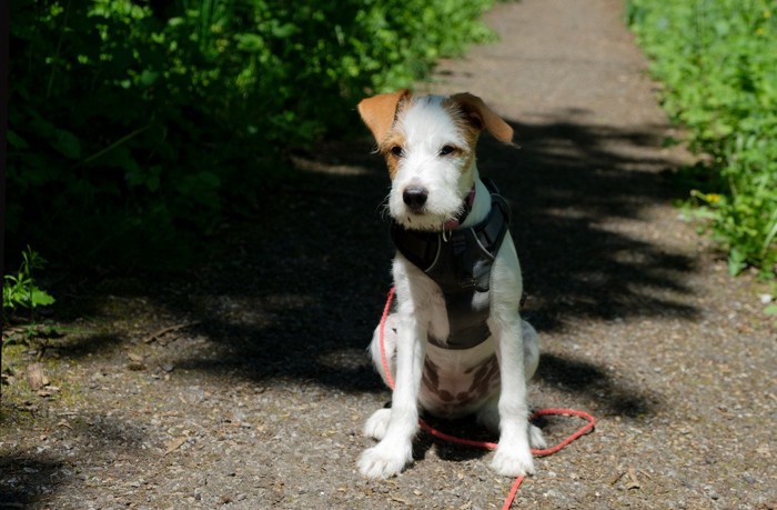
[[[652,228],[647,208],[672,198],[659,177],[672,162],[655,157],[662,128],[513,126],[522,149],[484,136],[478,166],[513,203],[527,316],[537,329],[632,317],[693,320],[697,311],[683,284],[693,260],[623,228]],[[255,221],[222,236],[212,264],[158,294],[181,321],[200,320],[189,332],[212,347],[206,356],[180,352],[176,367],[382,390],[364,350],[391,284],[383,162],[366,142],[330,143],[299,161],[306,170],[269,187]],[[85,351],[82,344],[72,354]],[[598,370],[562,359],[548,368],[572,379]],[[626,414],[646,406],[638,396],[618,399],[614,406]]]

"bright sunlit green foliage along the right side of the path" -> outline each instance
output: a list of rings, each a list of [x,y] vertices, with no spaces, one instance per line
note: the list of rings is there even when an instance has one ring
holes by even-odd
[[[692,200],[729,269],[777,268],[777,12],[768,0],[629,0],[664,106],[707,167]]]

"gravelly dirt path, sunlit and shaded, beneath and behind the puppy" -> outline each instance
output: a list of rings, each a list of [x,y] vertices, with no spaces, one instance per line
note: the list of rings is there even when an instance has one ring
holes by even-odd
[[[480,166],[516,212],[544,342],[532,404],[599,420],[537,461],[515,508],[774,509],[777,331],[764,289],[728,279],[670,204],[662,171],[684,154],[662,148],[620,3],[500,3],[502,41],[430,86],[515,127],[522,149],[484,140]],[[4,357],[0,507],[501,508],[511,480],[488,453],[426,436],[402,476],[355,471],[389,399],[364,356],[392,252],[369,152],[365,137],[301,159],[194,274],[63,283],[74,306],[42,356],[50,386],[23,381],[39,353]]]

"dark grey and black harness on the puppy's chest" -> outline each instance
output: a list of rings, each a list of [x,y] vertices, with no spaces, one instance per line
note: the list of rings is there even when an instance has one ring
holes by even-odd
[[[428,341],[445,349],[471,349],[491,334],[488,319],[491,269],[509,228],[511,211],[491,179],[488,216],[474,227],[451,232],[406,230],[395,221],[391,238],[410,262],[428,276],[443,292],[450,334]]]

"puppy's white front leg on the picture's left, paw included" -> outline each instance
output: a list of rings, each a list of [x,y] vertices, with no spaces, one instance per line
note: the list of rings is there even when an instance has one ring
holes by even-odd
[[[404,308],[408,308],[408,303],[401,302],[397,310],[396,376],[391,418],[381,442],[366,450],[359,460],[361,473],[369,478],[392,477],[413,460],[427,322],[416,311],[403,310]]]

